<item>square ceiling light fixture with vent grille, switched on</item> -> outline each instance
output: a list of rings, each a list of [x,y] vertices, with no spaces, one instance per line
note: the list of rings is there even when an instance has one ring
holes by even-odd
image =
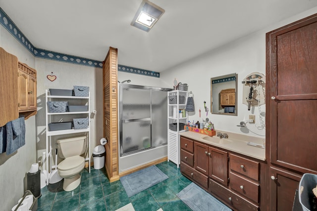
[[[149,32],[164,12],[165,10],[160,8],[158,5],[148,0],[143,0],[131,22],[131,25],[143,31]]]

